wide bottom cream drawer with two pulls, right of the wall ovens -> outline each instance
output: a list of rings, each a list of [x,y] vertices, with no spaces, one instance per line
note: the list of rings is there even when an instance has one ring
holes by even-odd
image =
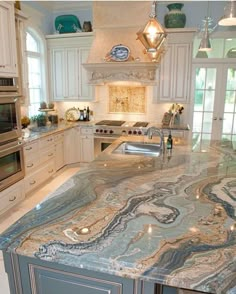
[[[55,173],[54,161],[51,160],[43,168],[36,171],[33,175],[24,179],[25,193],[37,188],[41,183],[49,179]]]

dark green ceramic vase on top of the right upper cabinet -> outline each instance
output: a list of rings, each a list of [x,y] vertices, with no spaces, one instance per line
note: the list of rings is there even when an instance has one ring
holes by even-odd
[[[165,15],[164,22],[166,28],[184,28],[186,15],[181,11],[183,3],[172,3],[167,5],[169,12]]]

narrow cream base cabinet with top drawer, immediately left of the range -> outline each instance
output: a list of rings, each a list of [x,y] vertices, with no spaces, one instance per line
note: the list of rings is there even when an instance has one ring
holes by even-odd
[[[92,127],[81,127],[80,131],[80,161],[94,160],[94,135]]]

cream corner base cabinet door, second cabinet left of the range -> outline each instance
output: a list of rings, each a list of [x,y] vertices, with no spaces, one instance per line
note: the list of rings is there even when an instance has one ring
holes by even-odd
[[[64,131],[64,159],[65,164],[80,162],[80,133],[79,128]]]

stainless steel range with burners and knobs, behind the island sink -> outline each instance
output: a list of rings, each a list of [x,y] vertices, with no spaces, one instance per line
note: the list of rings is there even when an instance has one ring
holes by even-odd
[[[102,120],[94,127],[94,156],[97,157],[122,135],[144,135],[148,122]]]

